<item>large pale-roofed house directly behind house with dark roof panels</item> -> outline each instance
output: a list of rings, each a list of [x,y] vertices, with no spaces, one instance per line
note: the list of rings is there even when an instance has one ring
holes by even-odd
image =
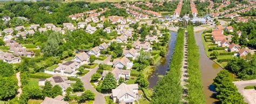
[[[76,69],[78,69],[79,66],[78,62],[68,61],[63,64],[58,64],[58,67],[54,69],[54,72],[56,75],[76,77]]]

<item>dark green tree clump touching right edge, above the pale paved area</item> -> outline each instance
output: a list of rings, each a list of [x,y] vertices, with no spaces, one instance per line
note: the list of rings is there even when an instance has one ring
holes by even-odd
[[[228,62],[225,69],[242,80],[256,79],[256,55],[247,55],[246,58],[235,57]]]

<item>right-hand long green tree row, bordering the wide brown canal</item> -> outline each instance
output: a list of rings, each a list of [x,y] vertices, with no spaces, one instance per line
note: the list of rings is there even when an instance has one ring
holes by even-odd
[[[203,85],[201,81],[201,72],[199,69],[199,49],[194,39],[193,26],[187,27],[188,35],[188,103],[205,103],[205,96],[203,94]]]

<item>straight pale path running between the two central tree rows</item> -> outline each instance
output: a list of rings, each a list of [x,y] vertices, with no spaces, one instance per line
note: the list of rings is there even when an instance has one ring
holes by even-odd
[[[187,33],[185,33],[185,38],[184,38],[184,52],[183,52],[183,61],[182,61],[182,67],[181,67],[181,86],[183,88],[183,97],[182,97],[182,101],[184,103],[187,103],[187,101],[185,100],[186,96],[187,96],[187,79],[188,79],[188,73],[187,73]]]

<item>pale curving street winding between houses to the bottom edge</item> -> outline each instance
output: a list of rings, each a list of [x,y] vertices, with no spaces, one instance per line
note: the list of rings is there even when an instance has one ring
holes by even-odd
[[[106,64],[109,63],[111,60],[111,55],[108,56],[102,63]],[[95,93],[95,100],[93,103],[96,104],[104,104],[106,103],[105,98],[104,98],[104,94],[101,94],[99,92],[96,91],[96,89],[91,85],[90,83],[90,79],[91,76],[93,75],[93,73],[96,73],[97,69],[99,68],[99,65],[97,65],[95,68],[93,68],[90,72],[86,73],[84,76],[81,77],[82,82],[84,83],[84,88],[86,90],[90,90],[93,93]]]

